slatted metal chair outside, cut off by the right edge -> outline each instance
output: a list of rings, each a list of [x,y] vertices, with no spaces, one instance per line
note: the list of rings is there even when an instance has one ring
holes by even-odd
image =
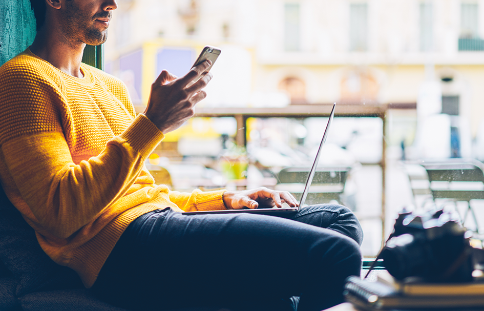
[[[447,159],[441,161],[422,161],[420,163],[429,176],[430,191],[434,201],[448,199],[454,203],[467,202],[462,224],[472,215],[479,233],[479,224],[471,201],[484,199],[484,164],[474,159]]]

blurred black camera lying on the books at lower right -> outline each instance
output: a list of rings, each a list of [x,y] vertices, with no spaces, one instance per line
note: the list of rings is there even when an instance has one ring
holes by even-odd
[[[379,257],[398,280],[469,282],[481,267],[482,252],[470,245],[456,213],[437,210],[416,215],[404,210]]]

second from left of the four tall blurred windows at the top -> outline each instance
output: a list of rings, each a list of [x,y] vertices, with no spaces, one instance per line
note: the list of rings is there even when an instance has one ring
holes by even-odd
[[[366,3],[350,5],[350,51],[368,50],[368,6]]]

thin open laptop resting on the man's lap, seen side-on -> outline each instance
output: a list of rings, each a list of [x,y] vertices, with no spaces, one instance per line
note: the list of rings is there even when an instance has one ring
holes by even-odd
[[[304,206],[304,202],[306,201],[307,194],[309,193],[309,188],[312,183],[312,179],[314,177],[314,173],[316,172],[316,168],[318,167],[319,158],[321,157],[321,149],[323,148],[323,144],[326,141],[326,137],[328,136],[328,129],[331,126],[331,122],[334,117],[334,108],[336,104],[333,104],[333,108],[331,109],[331,113],[329,115],[328,123],[326,124],[326,129],[324,130],[323,138],[321,139],[321,143],[319,145],[318,152],[316,153],[316,157],[314,162],[312,163],[311,170],[309,171],[309,176],[306,180],[306,185],[304,187],[303,194],[301,196],[301,200],[299,202],[299,206]],[[287,205],[287,204],[285,204]],[[260,206],[260,205],[259,205]],[[234,214],[234,213],[251,213],[251,214],[263,214],[263,215],[280,215],[280,214],[287,214],[287,213],[294,213],[299,211],[299,206],[294,208],[291,207],[282,207],[282,208],[258,208],[258,209],[241,209],[241,210],[221,210],[221,211],[194,211],[194,212],[183,212],[183,215],[200,215],[200,214]]]

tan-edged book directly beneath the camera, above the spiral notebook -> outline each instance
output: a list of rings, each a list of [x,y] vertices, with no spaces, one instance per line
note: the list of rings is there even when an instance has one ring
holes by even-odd
[[[411,296],[484,296],[484,283],[425,283],[417,279],[398,281],[387,271],[380,271],[378,282],[388,284],[397,292]]]

